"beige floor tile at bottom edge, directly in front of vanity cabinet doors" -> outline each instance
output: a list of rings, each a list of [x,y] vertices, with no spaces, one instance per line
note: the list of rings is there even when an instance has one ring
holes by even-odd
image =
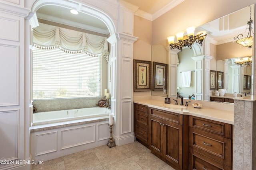
[[[168,164],[150,152],[142,152],[131,157],[144,170],[160,170]]]

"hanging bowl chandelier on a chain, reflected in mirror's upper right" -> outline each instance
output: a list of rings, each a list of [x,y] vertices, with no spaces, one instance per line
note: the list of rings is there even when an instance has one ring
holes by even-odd
[[[238,36],[234,37],[234,41],[236,43],[242,45],[243,47],[248,47],[249,49],[252,48],[252,43],[253,43],[253,37],[252,37],[252,7],[250,6],[250,20],[247,22],[247,27],[246,29],[249,29],[247,37],[243,37],[243,34],[240,33]]]

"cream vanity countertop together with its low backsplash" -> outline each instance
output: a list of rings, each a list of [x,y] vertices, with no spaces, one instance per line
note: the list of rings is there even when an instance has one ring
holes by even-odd
[[[184,115],[192,115],[214,121],[220,121],[223,123],[234,124],[234,104],[216,103],[216,102],[204,102],[198,100],[184,99],[183,106],[180,106],[180,99],[170,98],[171,104],[164,103],[164,97],[160,96],[134,96],[133,102],[137,104],[146,105],[157,109],[166,111],[172,111]],[[174,100],[178,100],[178,105],[175,105]],[[185,106],[185,103],[188,106]],[[194,108],[194,103],[202,104],[202,108]]]

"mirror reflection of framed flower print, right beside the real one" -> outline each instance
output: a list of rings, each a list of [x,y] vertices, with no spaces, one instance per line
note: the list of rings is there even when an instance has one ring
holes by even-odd
[[[153,62],[153,91],[167,88],[167,64]]]

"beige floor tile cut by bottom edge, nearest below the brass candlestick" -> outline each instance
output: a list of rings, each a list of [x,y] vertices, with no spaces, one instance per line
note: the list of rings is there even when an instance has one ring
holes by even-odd
[[[115,162],[104,167],[105,170],[142,170],[142,168],[131,158]]]

